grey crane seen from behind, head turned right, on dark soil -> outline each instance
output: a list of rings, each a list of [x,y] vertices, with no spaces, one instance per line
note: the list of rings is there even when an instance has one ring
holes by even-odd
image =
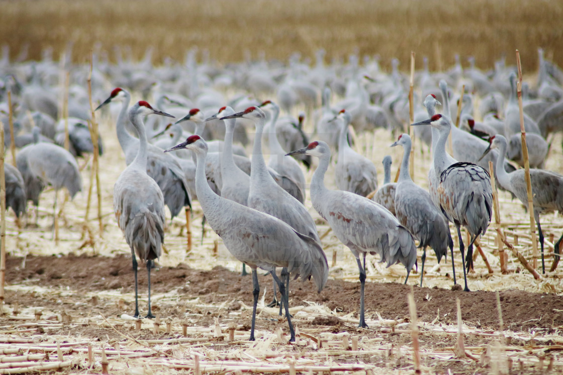
[[[119,228],[131,247],[133,272],[135,273],[135,318],[139,317],[137,293],[137,259],[146,263],[149,283],[149,312],[146,318],[154,318],[150,310],[150,269],[153,260],[160,257],[164,242],[164,196],[155,180],[146,172],[148,162],[145,125],[141,116],[157,114],[169,116],[153,109],[145,101],[137,102],[129,110],[129,120],[137,130],[139,145],[135,159],[119,175],[113,188],[113,210]]]

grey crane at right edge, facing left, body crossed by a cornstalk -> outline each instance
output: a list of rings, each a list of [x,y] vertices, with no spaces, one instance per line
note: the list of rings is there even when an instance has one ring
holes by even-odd
[[[498,148],[499,155],[501,155],[501,157],[498,157],[497,164],[501,164],[504,160],[504,156],[506,156],[507,147],[508,143],[506,138],[502,135],[494,135],[489,138],[489,148],[485,150],[483,155],[494,148]],[[528,191],[526,190],[524,169],[518,169],[511,173],[506,173],[504,169],[497,168],[497,178],[505,189],[512,192],[512,194],[515,195],[525,207],[528,207]],[[546,267],[543,259],[543,232],[542,227],[539,224],[539,215],[551,213],[553,211],[559,211],[560,214],[563,213],[563,190],[561,189],[561,187],[563,187],[563,176],[548,170],[530,169],[530,179],[534,203],[534,219],[535,223],[538,225],[539,242],[542,248],[542,270],[543,273],[545,273]],[[555,243],[555,254],[559,254],[559,244],[562,239],[563,236],[561,236],[561,238],[559,238],[559,240]],[[558,260],[558,255],[556,255],[553,262],[553,269],[555,269],[555,265]]]

